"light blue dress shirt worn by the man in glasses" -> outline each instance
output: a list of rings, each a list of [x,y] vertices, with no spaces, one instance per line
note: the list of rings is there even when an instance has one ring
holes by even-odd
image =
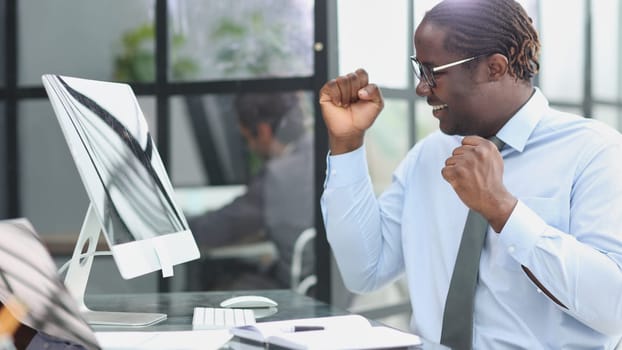
[[[622,136],[551,109],[536,89],[500,130],[503,182],[518,204],[488,230],[475,296],[475,349],[612,349],[622,336]],[[405,274],[411,328],[439,341],[468,208],[441,176],[459,136],[418,142],[378,198],[364,147],[329,156],[322,214],[349,289]],[[527,277],[529,268],[567,309]]]

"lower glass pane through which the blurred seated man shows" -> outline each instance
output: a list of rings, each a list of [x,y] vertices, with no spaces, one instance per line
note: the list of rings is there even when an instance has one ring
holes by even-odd
[[[290,288],[312,277],[314,245],[302,235],[315,215],[312,98],[171,99],[171,178],[204,257],[194,288]]]

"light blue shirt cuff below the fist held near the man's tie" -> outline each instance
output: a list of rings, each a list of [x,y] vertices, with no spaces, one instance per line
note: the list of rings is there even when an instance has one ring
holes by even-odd
[[[525,265],[547,227],[538,214],[519,200],[499,233],[499,241],[510,256]]]

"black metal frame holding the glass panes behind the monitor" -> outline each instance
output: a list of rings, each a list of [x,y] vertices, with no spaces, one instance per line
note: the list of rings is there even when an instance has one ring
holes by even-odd
[[[32,98],[45,98],[47,95],[43,87],[19,87],[17,85],[17,71],[19,58],[17,57],[17,2],[18,0],[5,1],[5,33],[6,42],[4,52],[6,54],[5,66],[3,67],[6,84],[0,87],[0,101],[5,102],[6,129],[2,139],[7,150],[7,164],[4,167],[7,182],[7,217],[18,217],[21,214],[20,203],[20,174],[19,174],[19,140],[18,140],[18,110],[17,103],[20,100]],[[327,42],[327,0],[315,0],[315,43],[316,48],[325,48]],[[206,82],[169,82],[167,76],[168,66],[168,16],[167,1],[156,0],[155,2],[155,26],[156,26],[156,79],[154,83],[130,83],[137,95],[152,95],[156,99],[157,116],[157,144],[160,156],[165,166],[170,160],[170,98],[176,95],[193,94],[226,94],[239,91],[279,91],[279,90],[304,90],[313,92],[315,101],[318,100],[318,91],[327,79],[327,53],[325,49],[315,50],[314,74],[311,77],[253,79],[253,80],[227,80]],[[316,213],[315,224],[318,233],[316,239],[317,270],[318,277],[317,297],[325,302],[330,301],[330,250],[325,239],[324,226],[320,216],[319,198],[322,191],[325,167],[324,156],[328,150],[327,136],[324,123],[322,122],[319,106],[315,104],[315,199]],[[169,291],[167,280],[160,280],[159,289],[162,292]]]

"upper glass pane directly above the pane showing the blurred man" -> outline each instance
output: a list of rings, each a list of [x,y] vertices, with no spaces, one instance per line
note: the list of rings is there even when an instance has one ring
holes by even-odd
[[[313,0],[168,0],[172,81],[313,74]]]

